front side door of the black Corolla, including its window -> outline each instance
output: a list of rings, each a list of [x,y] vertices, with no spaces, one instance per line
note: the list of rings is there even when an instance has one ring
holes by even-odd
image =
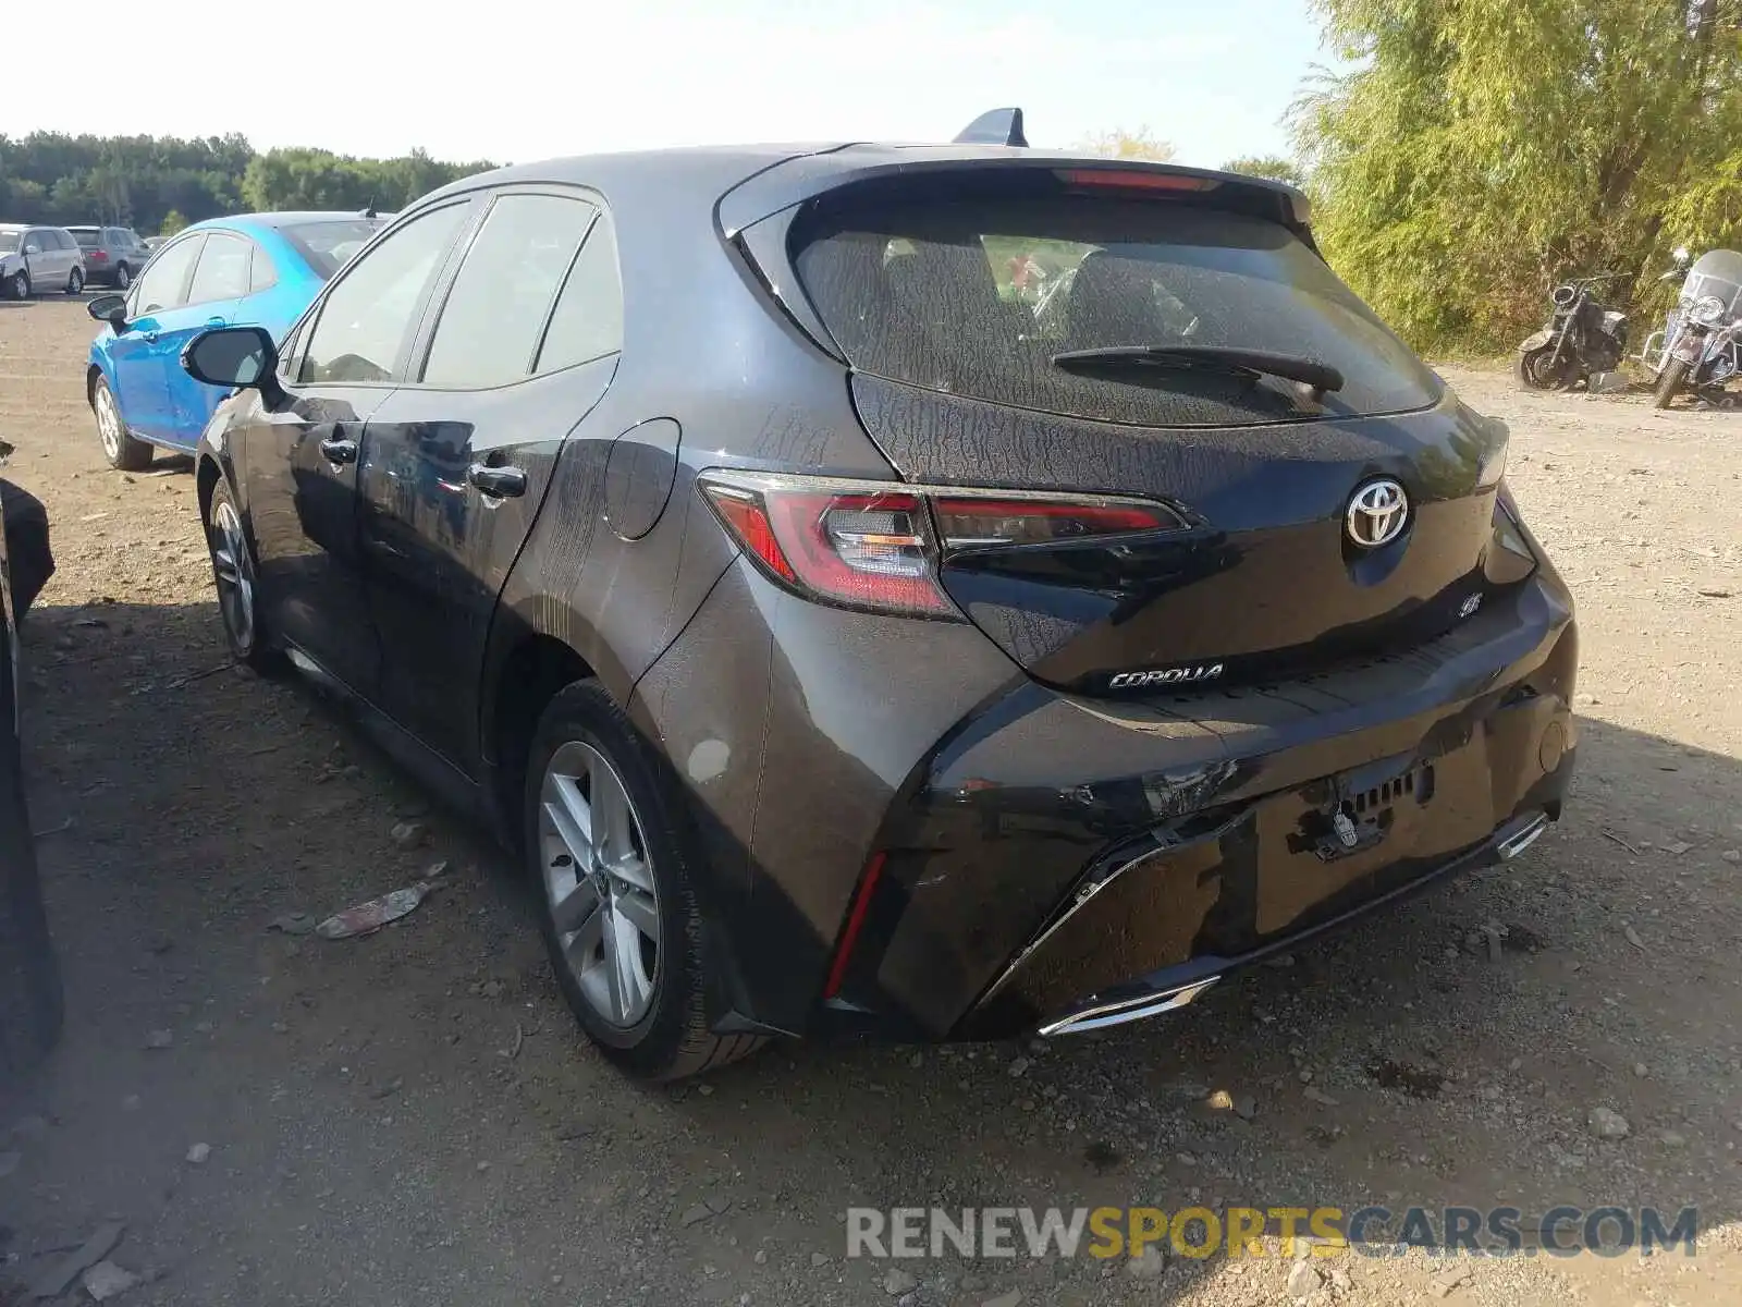
[[[371,699],[381,659],[359,554],[362,430],[406,375],[469,211],[469,199],[427,209],[334,277],[286,342],[282,396],[233,429],[267,626]]]

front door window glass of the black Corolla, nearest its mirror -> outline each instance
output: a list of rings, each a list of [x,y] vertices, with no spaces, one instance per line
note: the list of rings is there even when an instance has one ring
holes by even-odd
[[[467,207],[448,204],[413,218],[348,268],[321,305],[298,382],[395,380],[399,347]]]

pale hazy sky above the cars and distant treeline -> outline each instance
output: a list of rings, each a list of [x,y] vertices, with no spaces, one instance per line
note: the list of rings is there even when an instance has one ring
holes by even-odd
[[[1148,127],[1181,162],[1286,153],[1308,0],[296,0],[157,7],[108,75],[14,61],[0,132],[240,132],[258,150],[526,162],[749,141],[942,141],[1019,105],[1038,146]],[[237,12],[240,16],[242,10]],[[188,70],[185,77],[176,68]]]

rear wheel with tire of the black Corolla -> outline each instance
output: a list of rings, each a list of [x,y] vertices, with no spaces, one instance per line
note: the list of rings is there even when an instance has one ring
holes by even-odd
[[[700,856],[683,796],[596,681],[559,692],[538,721],[524,831],[550,965],[606,1058],[676,1080],[761,1046],[707,1028]]]

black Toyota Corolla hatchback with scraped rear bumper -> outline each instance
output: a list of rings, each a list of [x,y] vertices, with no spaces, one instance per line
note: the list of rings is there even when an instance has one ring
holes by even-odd
[[[639,1075],[1151,1016],[1561,812],[1505,427],[1280,185],[517,166],[183,361],[242,387],[199,455],[237,657],[496,828]]]

